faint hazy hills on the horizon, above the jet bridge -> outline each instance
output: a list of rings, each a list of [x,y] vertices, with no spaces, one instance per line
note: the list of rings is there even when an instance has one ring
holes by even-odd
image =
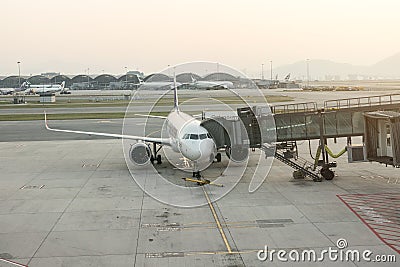
[[[269,78],[269,70],[266,77]],[[307,79],[307,61],[298,61],[273,69],[273,78],[278,74],[283,79],[288,73],[291,79]],[[312,59],[309,61],[310,79],[325,79],[327,76],[340,76],[346,79],[349,75],[364,77],[400,78],[400,53],[388,57],[371,66],[358,66],[338,63],[331,60]]]

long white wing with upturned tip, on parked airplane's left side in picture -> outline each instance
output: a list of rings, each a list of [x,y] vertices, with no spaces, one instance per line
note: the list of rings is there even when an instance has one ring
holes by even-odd
[[[156,137],[147,137],[147,136],[135,136],[135,135],[126,135],[126,134],[110,134],[110,133],[99,133],[99,132],[86,132],[86,131],[74,131],[74,130],[62,130],[62,129],[54,129],[50,128],[47,124],[47,115],[44,113],[44,121],[46,129],[53,132],[64,132],[64,133],[76,133],[76,134],[87,134],[87,135],[97,135],[97,136],[107,136],[114,138],[126,138],[150,143],[157,143],[170,146],[171,141],[168,138],[156,138]]]

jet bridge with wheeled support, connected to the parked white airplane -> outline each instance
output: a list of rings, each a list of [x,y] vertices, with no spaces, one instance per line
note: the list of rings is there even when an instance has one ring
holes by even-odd
[[[400,152],[397,146],[392,145],[391,148],[393,147],[394,154],[388,154],[392,155],[393,160],[382,161],[382,157],[384,156],[378,158],[374,156],[375,152],[372,152],[373,150],[378,151],[378,147],[371,145],[374,137],[366,139],[365,144],[361,147],[361,153],[359,146],[351,145],[351,137],[368,137],[366,134],[375,122],[371,124],[371,120],[373,120],[372,115],[366,115],[366,119],[364,119],[365,114],[372,114],[371,112],[376,111],[400,112],[400,94],[329,100],[324,102],[322,108],[318,108],[315,102],[275,105],[271,107],[271,110],[275,119],[276,141],[278,143],[295,144],[296,141],[300,140],[320,140],[318,158],[314,163],[306,162],[297,164],[296,159],[298,157],[290,156],[290,153],[295,151],[293,147],[297,149],[296,145],[291,146],[292,149],[284,148],[286,150],[283,153],[277,149],[275,153],[277,159],[300,171],[303,176],[311,177],[314,181],[321,180],[315,176],[315,171],[318,170],[317,166],[321,167],[319,174],[322,177],[332,179],[334,173],[330,168],[335,167],[336,163],[329,162],[329,155],[335,158],[344,153],[342,151],[339,153],[340,155],[333,155],[329,148],[326,147],[326,141],[329,138],[347,137],[349,140],[347,152],[349,155],[358,155],[357,160],[377,161],[386,163],[387,165],[399,166]],[[239,154],[243,157],[244,155],[247,156],[247,148],[265,148],[265,145],[261,143],[260,127],[267,126],[263,124],[262,120],[257,120],[257,118],[262,118],[260,115],[265,111],[265,107],[255,106],[251,108],[239,108],[237,109],[237,114],[234,115],[204,112],[202,125],[214,137],[219,149],[225,148],[228,149],[227,151],[230,151],[230,149],[236,147],[241,151]],[[397,140],[397,143],[399,143],[399,118],[394,114],[386,114],[385,116],[384,120],[394,121],[391,126],[392,142]],[[259,121],[261,121],[261,125],[259,125]],[[266,132],[268,130],[266,129]],[[232,133],[231,137],[229,137],[228,132]],[[367,154],[365,153],[365,146],[367,146],[367,150],[369,149],[367,157],[364,156]],[[277,148],[279,147],[285,146],[277,146]],[[227,154],[229,153],[227,152]],[[322,155],[322,160],[320,161],[318,161],[319,154]],[[350,162],[357,160],[355,157],[349,158]],[[298,166],[307,166],[307,168],[300,168]],[[313,174],[309,172],[310,166],[312,166]]]

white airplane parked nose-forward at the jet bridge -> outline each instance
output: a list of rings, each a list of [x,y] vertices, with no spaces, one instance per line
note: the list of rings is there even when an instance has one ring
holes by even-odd
[[[189,159],[193,162],[193,177],[201,179],[202,176],[200,171],[207,168],[212,162],[214,162],[214,159],[217,159],[217,161],[220,162],[221,154],[217,153],[216,144],[212,136],[204,127],[200,125],[201,121],[179,110],[176,78],[174,78],[174,84],[174,108],[168,114],[168,116],[163,117],[145,115],[147,117],[165,119],[168,138],[50,128],[48,126],[47,116],[45,113],[46,129],[54,132],[108,136],[136,140],[138,142],[131,145],[129,150],[129,158],[136,166],[148,165],[150,162],[154,163],[154,161],[157,161],[157,164],[161,164],[161,155],[157,154],[159,149],[157,149],[156,146],[169,146],[174,152],[180,153],[186,159]],[[153,151],[151,151],[151,143],[153,144]]]

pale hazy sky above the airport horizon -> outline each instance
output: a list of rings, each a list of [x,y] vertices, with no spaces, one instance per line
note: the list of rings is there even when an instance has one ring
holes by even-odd
[[[400,52],[398,0],[2,0],[0,75],[155,72],[212,61],[258,76],[310,59]],[[267,67],[265,67],[267,68]]]

